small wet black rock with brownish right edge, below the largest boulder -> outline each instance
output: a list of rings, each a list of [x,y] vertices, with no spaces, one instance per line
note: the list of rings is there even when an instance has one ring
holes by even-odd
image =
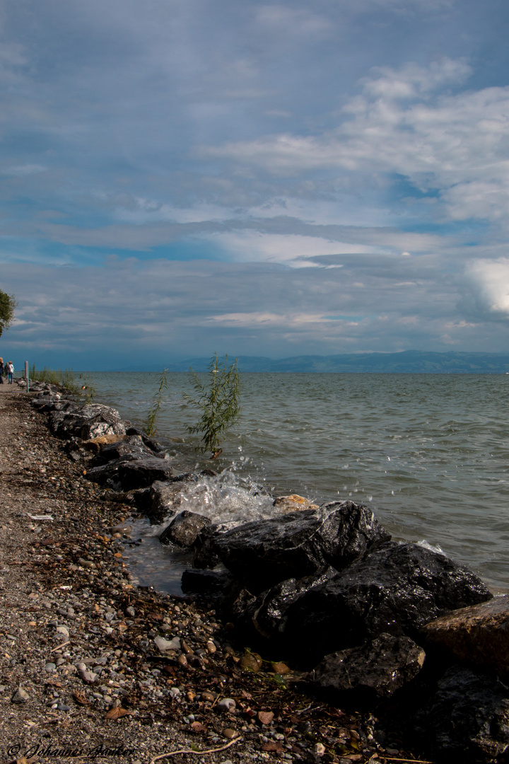
[[[410,637],[384,633],[362,646],[330,653],[307,679],[334,703],[372,709],[416,677],[425,657]]]

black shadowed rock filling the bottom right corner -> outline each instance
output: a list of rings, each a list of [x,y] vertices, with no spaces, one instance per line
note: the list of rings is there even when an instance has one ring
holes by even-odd
[[[409,735],[436,761],[507,761],[509,689],[494,676],[453,666],[413,715]]]

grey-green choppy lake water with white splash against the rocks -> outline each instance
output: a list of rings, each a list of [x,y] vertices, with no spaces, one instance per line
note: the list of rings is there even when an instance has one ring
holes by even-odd
[[[203,375],[205,377],[205,375]],[[94,373],[95,400],[143,421],[151,373]],[[369,504],[393,536],[426,540],[509,591],[509,375],[242,374],[242,411],[188,507],[214,518],[269,516],[269,494]],[[158,437],[177,471],[210,467],[186,434],[198,414],[188,375],[169,374]],[[179,565],[139,521],[140,582],[176,591]],[[150,539],[152,534],[152,539]],[[144,550],[143,553],[141,550]]]

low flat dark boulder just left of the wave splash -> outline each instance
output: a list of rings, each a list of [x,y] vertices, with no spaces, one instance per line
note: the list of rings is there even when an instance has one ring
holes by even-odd
[[[128,491],[150,486],[154,481],[169,480],[172,468],[166,459],[156,456],[134,458],[127,454],[101,467],[92,467],[86,471],[85,477],[114,490]]]

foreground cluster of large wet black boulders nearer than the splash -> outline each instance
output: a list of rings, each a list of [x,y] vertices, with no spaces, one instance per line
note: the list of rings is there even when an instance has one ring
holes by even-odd
[[[308,692],[376,709],[435,760],[506,760],[509,603],[467,568],[393,541],[350,501],[204,523],[193,549],[215,569],[185,571],[183,590],[215,597],[259,654],[304,669]]]

